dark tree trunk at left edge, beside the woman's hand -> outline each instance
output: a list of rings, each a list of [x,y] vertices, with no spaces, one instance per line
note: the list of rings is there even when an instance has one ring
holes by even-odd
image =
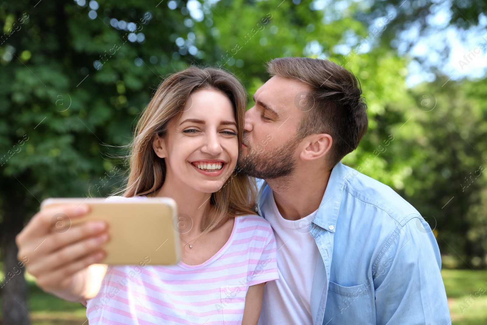
[[[4,277],[0,279],[3,325],[30,325],[25,268],[17,260],[18,249],[15,244],[15,236],[23,228],[25,217],[25,200],[22,198],[23,193],[16,192],[5,197],[3,202],[4,213],[0,227],[4,272]]]

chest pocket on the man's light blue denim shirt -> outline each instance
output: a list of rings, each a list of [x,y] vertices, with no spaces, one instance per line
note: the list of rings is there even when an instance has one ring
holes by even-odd
[[[375,324],[368,285],[343,287],[330,281],[324,320],[328,325]]]

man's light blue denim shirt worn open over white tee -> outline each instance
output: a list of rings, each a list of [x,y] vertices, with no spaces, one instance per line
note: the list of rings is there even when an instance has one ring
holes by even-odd
[[[263,180],[258,186],[262,215],[263,191],[271,190]],[[390,187],[337,163],[309,232],[320,253],[314,325],[450,324],[436,239]]]

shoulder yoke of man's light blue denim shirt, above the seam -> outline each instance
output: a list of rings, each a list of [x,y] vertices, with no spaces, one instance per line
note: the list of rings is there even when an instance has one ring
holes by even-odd
[[[414,217],[420,217],[418,210],[391,187],[353,168],[343,167],[343,195],[349,200],[358,201],[362,209],[382,211],[384,216],[389,216],[401,226]]]

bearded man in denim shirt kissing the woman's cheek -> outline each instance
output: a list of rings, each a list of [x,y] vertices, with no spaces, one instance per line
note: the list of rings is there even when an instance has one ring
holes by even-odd
[[[268,72],[239,159],[261,179],[257,210],[278,248],[280,279],[265,286],[259,324],[450,324],[428,224],[340,163],[368,125],[355,76],[303,57],[274,59]]]

